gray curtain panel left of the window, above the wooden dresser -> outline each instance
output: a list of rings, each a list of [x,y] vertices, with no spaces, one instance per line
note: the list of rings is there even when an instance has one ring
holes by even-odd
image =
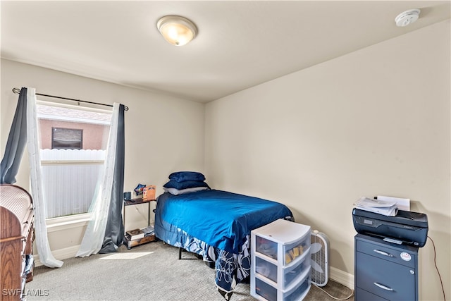
[[[13,123],[6,141],[5,154],[0,163],[0,183],[14,184],[20,161],[27,145],[27,88],[20,89]]]

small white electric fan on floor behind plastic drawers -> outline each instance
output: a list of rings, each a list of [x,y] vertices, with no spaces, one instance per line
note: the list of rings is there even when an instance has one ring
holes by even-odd
[[[327,284],[329,269],[329,239],[317,230],[311,232],[311,283],[317,286]]]

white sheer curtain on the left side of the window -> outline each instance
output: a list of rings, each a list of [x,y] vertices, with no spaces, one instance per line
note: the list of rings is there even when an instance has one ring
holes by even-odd
[[[56,260],[51,254],[49,239],[47,238],[38,125],[35,88],[27,88],[27,145],[30,160],[31,195],[35,205],[35,241],[37,242],[39,261],[45,266],[59,268],[63,265],[63,262]]]

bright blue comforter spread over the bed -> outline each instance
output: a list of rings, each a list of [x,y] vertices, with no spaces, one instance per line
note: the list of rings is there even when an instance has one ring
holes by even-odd
[[[156,234],[183,229],[208,245],[238,253],[246,235],[276,219],[292,216],[278,202],[221,190],[202,190],[159,197]]]

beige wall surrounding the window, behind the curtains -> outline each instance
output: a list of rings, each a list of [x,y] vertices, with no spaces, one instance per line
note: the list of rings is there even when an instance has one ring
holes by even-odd
[[[1,157],[18,100],[18,95],[11,92],[13,87],[35,87],[38,93],[104,104],[121,102],[128,106],[130,110],[125,112],[125,191],[132,191],[142,183],[156,185],[159,194],[169,173],[204,170],[204,104],[6,60],[1,60]],[[28,188],[28,178],[25,154],[16,184]],[[126,214],[128,229],[147,223],[145,205],[127,207]],[[82,227],[75,233],[67,225],[63,228],[66,232],[51,228],[49,239],[52,250],[67,249],[62,255],[66,256],[80,244]],[[71,231],[70,235],[66,235],[67,231]]]

